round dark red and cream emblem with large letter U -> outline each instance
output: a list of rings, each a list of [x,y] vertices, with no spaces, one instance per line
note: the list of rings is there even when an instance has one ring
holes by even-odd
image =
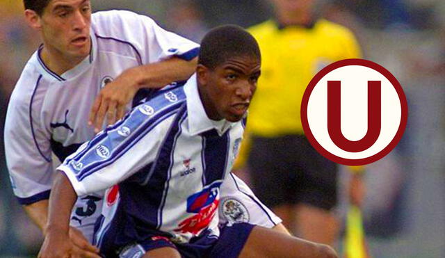
[[[346,59],[314,76],[302,99],[301,120],[309,142],[327,159],[365,165],[396,147],[405,131],[407,102],[384,67]]]

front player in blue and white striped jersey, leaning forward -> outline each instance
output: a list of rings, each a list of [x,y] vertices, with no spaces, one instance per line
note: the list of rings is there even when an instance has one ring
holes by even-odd
[[[136,106],[58,168],[39,257],[69,257],[76,195],[115,184],[95,242],[105,257],[334,257],[332,249],[249,223],[218,228],[220,186],[230,177],[245,112],[260,75],[252,35],[221,26],[202,40],[196,75]],[[108,199],[108,198],[107,198]],[[128,256],[127,256],[128,257]]]

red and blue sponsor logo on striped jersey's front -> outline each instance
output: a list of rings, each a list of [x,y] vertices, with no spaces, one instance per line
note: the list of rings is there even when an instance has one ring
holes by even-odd
[[[209,226],[218,210],[220,185],[215,182],[187,198],[187,212],[196,214],[179,223],[175,232],[198,234]]]

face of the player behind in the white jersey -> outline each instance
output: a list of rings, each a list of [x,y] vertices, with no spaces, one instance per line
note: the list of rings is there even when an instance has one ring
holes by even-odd
[[[40,17],[40,24],[44,47],[73,58],[90,54],[89,0],[52,0]]]

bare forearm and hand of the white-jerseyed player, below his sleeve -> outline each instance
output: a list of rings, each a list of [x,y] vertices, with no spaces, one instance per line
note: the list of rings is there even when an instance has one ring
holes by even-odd
[[[127,104],[140,88],[160,88],[173,81],[185,81],[195,72],[196,64],[197,58],[185,61],[172,57],[125,70],[99,92],[89,124],[94,124],[96,133],[102,129],[105,117],[108,124],[114,124],[124,116]]]

